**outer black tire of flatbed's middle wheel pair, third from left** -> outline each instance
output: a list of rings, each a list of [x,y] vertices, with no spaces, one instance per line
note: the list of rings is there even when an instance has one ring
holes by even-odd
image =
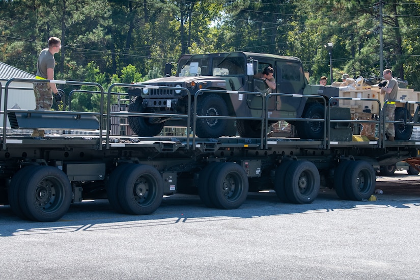
[[[210,199],[221,209],[240,207],[248,195],[248,177],[242,166],[233,162],[223,162],[210,175],[214,184],[209,185]]]

